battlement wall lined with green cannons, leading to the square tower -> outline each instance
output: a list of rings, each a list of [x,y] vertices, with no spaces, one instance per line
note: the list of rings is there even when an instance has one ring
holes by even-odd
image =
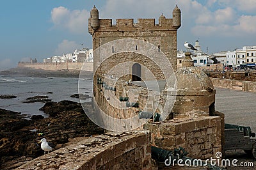
[[[148,91],[147,88],[125,82],[122,79],[116,80],[115,77],[108,78],[104,75],[98,77],[98,81],[97,78],[94,81],[93,96],[95,100],[93,100],[93,102],[95,102],[95,104],[97,103],[101,111],[104,111],[104,113],[111,116],[111,118],[117,118],[120,120],[136,117],[135,119],[138,120],[139,111],[143,110],[152,112],[153,100],[154,98],[157,98],[157,94],[153,91]],[[127,100],[120,101],[120,97],[125,97]],[[95,116],[101,116],[102,114],[99,114],[101,111],[96,111],[97,114],[95,114]],[[102,120],[102,118],[100,118],[98,120]],[[109,121],[106,119],[107,118],[103,119],[106,121],[106,123],[103,124],[108,127]],[[123,121],[120,123],[122,123],[122,125],[116,125],[117,128],[125,128],[125,126],[128,126],[138,128],[140,130],[143,129],[143,126],[141,126],[140,123],[137,126],[133,121],[131,123],[134,124],[131,125],[127,125],[126,123],[124,124]]]

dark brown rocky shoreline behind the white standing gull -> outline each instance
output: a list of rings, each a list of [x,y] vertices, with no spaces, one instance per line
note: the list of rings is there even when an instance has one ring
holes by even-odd
[[[86,110],[92,112],[92,103],[85,105]],[[38,144],[43,137],[58,149],[76,137],[104,133],[77,102],[47,102],[41,110],[48,113],[49,118],[34,116],[27,120],[20,112],[0,109],[0,169],[14,169],[44,155]]]

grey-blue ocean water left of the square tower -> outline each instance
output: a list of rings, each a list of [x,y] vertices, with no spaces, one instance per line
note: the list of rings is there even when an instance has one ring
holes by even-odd
[[[39,111],[44,103],[23,103],[26,98],[47,95],[52,102],[60,102],[61,100],[90,102],[91,98],[80,101],[79,98],[70,97],[70,95],[78,93],[78,81],[78,78],[69,77],[5,77],[0,75],[0,95],[17,96],[17,98],[11,99],[0,98],[0,108],[28,114],[28,117],[37,114],[47,117],[47,114]],[[83,79],[83,87],[80,92],[92,97],[92,79]]]

